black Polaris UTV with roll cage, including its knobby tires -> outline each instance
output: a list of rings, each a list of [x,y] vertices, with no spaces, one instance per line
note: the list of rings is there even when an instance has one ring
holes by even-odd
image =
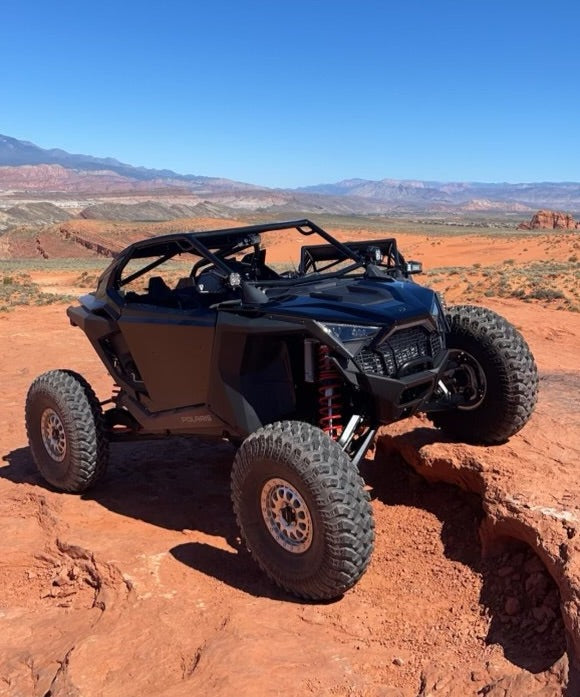
[[[358,464],[377,428],[425,412],[453,438],[501,443],[537,398],[516,329],[484,308],[445,310],[413,280],[420,270],[394,239],[342,243],[309,220],[132,244],[67,311],[117,389],[100,403],[68,370],[33,382],[38,469],[80,492],[103,474],[111,441],[228,439],[256,562],[303,598],[340,595],[373,547]]]

